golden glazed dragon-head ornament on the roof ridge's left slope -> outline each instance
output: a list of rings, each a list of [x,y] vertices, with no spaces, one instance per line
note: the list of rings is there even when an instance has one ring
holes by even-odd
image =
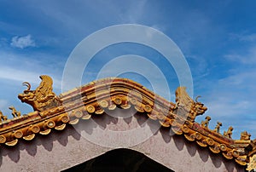
[[[30,83],[23,83],[27,86],[23,94],[18,95],[22,102],[31,105],[34,111],[44,111],[49,107],[61,105],[61,100],[52,92],[52,78],[47,75],[40,76],[42,82],[36,90],[30,90]]]

